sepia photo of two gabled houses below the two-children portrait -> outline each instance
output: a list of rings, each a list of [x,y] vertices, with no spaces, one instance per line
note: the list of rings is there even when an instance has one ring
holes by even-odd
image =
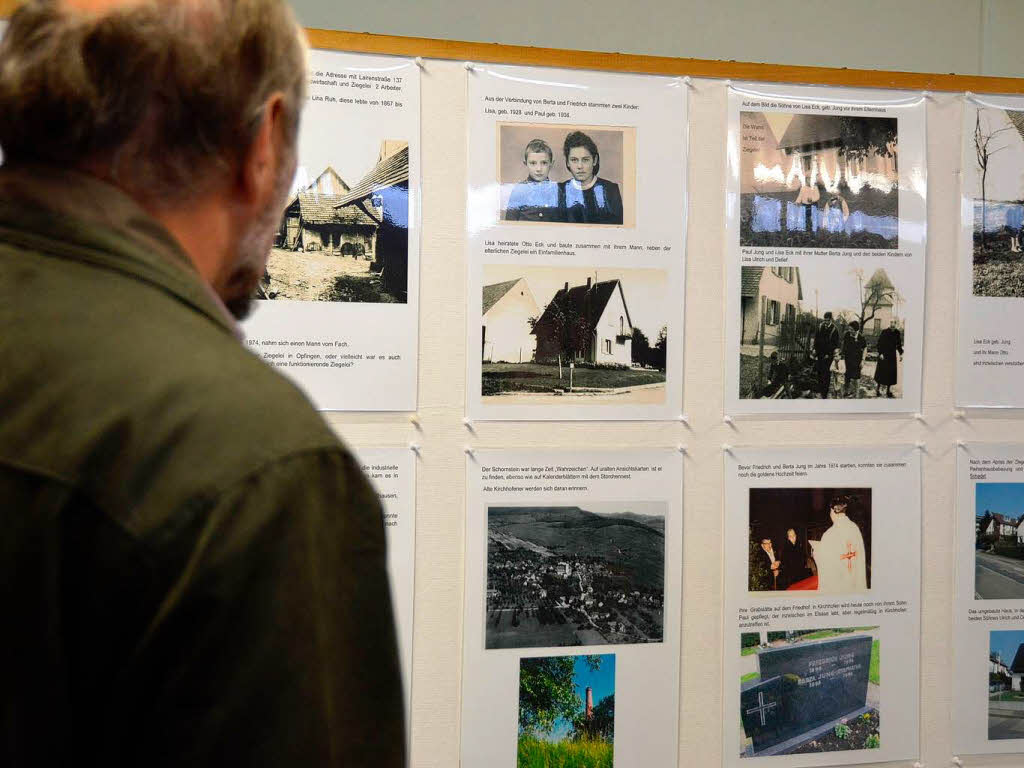
[[[658,403],[669,281],[662,269],[485,264],[484,403]]]

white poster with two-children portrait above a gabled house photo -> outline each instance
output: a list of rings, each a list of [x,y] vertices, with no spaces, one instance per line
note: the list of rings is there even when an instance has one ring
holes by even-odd
[[[479,65],[468,78],[469,416],[677,418],[682,80]]]

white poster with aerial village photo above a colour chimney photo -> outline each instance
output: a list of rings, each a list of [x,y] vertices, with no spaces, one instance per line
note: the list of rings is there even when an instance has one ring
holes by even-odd
[[[462,765],[676,765],[682,457],[478,451],[467,473]]]

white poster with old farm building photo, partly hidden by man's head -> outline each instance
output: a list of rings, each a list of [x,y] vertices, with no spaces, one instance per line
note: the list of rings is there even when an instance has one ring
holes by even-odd
[[[415,411],[420,70],[315,50],[310,72],[248,344],[322,411]]]

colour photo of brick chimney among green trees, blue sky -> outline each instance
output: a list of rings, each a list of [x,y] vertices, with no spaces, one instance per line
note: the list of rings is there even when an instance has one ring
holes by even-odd
[[[612,768],[615,656],[519,659],[516,768]]]

